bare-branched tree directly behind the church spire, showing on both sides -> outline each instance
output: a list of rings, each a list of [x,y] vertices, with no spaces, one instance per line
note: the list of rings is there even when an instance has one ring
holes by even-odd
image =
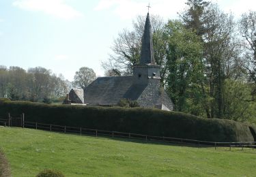
[[[139,63],[145,18],[145,16],[137,16],[137,19],[133,21],[133,29],[131,31],[124,29],[118,34],[111,47],[113,54],[109,55],[108,61],[102,63],[102,67],[106,71],[119,71],[118,73],[122,75],[132,74],[133,66]],[[150,16],[150,21],[152,31],[154,31],[154,58],[158,65],[162,65],[166,61],[165,54],[162,54],[162,47],[166,47],[166,44],[160,43],[159,37],[162,35],[165,23],[160,16],[154,15]],[[162,76],[164,75],[162,74]]]

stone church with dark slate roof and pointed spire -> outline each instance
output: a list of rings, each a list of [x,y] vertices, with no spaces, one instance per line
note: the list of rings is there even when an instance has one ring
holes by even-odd
[[[141,57],[132,76],[99,77],[84,89],[83,103],[115,106],[121,99],[137,101],[143,108],[173,110],[173,103],[160,84],[160,66],[154,60],[150,14],[147,13]]]

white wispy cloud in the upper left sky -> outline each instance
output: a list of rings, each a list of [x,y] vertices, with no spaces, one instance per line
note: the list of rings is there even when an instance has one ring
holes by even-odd
[[[44,12],[58,18],[72,19],[83,14],[65,4],[63,0],[16,0],[12,5],[23,10]]]

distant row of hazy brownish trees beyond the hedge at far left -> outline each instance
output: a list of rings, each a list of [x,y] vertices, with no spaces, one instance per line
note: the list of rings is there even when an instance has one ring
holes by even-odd
[[[0,66],[0,97],[49,103],[68,93],[68,80],[44,67]]]

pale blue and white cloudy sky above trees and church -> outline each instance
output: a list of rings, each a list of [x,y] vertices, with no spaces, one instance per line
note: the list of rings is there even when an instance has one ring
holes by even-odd
[[[150,14],[177,18],[186,0],[151,0]],[[212,0],[236,18],[255,0]],[[45,67],[72,81],[80,67],[104,76],[113,40],[147,14],[149,0],[0,0],[0,65]]]

